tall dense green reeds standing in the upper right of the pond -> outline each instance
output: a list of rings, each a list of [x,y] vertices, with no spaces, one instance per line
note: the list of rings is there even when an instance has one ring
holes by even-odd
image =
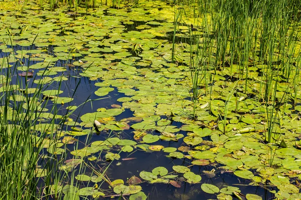
[[[279,82],[293,85],[290,89],[294,91],[298,89],[295,81],[299,79],[299,1],[181,2],[193,5],[185,10],[181,20],[187,26],[187,21],[194,21],[201,27],[186,37],[191,45],[193,99],[200,84],[206,85],[208,95],[209,70],[213,70],[211,76],[227,74],[244,80],[245,93],[259,85],[258,95],[266,105],[275,100],[274,85]]]

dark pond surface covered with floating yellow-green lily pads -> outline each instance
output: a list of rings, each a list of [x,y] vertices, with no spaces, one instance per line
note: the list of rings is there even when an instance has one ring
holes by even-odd
[[[193,32],[192,19],[183,19],[173,46],[174,14],[162,1],[77,12],[29,3],[0,13],[0,91],[15,92],[14,103],[37,103],[33,134],[51,135],[40,152],[48,157],[37,167],[56,160],[51,189],[44,191],[50,199],[301,196],[298,87],[283,72],[269,99],[275,103],[264,104],[268,64],[253,61],[246,74],[237,64],[215,65],[212,52],[213,60],[197,60],[207,65],[199,69],[193,96],[192,46],[214,34]],[[287,80],[298,81],[298,56],[290,63]],[[5,83],[17,86],[7,91]],[[291,96],[282,100],[285,93]],[[268,114],[274,126],[268,127]],[[39,189],[49,188],[46,174],[37,171]]]

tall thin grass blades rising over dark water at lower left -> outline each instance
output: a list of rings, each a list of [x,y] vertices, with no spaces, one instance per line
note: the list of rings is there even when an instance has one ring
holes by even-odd
[[[11,54],[14,55],[14,51]],[[67,121],[74,110],[66,109],[66,114],[61,115],[64,103],[58,100],[58,94],[62,76],[55,81],[40,79],[28,70],[29,66],[18,73],[21,62],[8,67],[9,56],[2,58],[0,70],[0,169],[3,171],[0,173],[3,182],[0,193],[6,199],[59,196],[61,190],[53,192],[54,186],[50,187],[55,182],[59,185],[63,177],[61,172],[56,173],[59,164],[65,160],[60,154],[66,145],[62,145],[60,137],[62,129],[68,128],[66,123],[70,126],[76,123]],[[27,61],[30,63],[30,58]],[[25,68],[23,66],[23,70]],[[16,75],[17,79],[13,81]],[[46,90],[52,95],[47,95]]]

